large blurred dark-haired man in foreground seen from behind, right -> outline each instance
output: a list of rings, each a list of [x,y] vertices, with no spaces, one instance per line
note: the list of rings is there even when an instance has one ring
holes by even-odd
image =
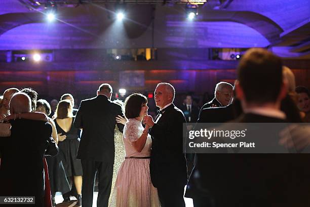
[[[279,57],[264,49],[248,50],[238,66],[236,92],[244,114],[234,122],[286,122],[280,111],[286,83]],[[268,143],[278,143],[278,132],[266,136]],[[196,182],[210,206],[308,206],[309,159],[308,154],[201,154]],[[208,169],[199,167],[206,164]]]

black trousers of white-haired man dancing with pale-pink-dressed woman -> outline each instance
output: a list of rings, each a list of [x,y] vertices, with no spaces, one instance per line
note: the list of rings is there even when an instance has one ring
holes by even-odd
[[[172,184],[158,187],[157,190],[161,202],[161,207],[185,207],[183,198],[184,187],[185,186]]]

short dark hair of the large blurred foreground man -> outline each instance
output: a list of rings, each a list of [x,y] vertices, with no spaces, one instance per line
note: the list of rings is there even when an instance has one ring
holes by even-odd
[[[238,80],[247,102],[275,102],[283,84],[282,61],[262,49],[249,49],[238,65]]]

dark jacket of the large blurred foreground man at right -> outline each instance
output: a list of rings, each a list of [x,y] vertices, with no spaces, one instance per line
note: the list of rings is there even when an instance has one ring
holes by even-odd
[[[234,122],[285,120],[242,114]],[[310,206],[309,160],[309,154],[198,154],[196,183],[216,207]]]

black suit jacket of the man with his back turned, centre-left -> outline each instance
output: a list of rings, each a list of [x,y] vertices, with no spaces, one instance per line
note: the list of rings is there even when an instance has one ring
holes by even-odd
[[[74,126],[82,128],[78,159],[114,162],[115,124],[123,132],[124,125],[115,117],[124,116],[121,106],[113,103],[105,95],[82,100],[74,119]]]

